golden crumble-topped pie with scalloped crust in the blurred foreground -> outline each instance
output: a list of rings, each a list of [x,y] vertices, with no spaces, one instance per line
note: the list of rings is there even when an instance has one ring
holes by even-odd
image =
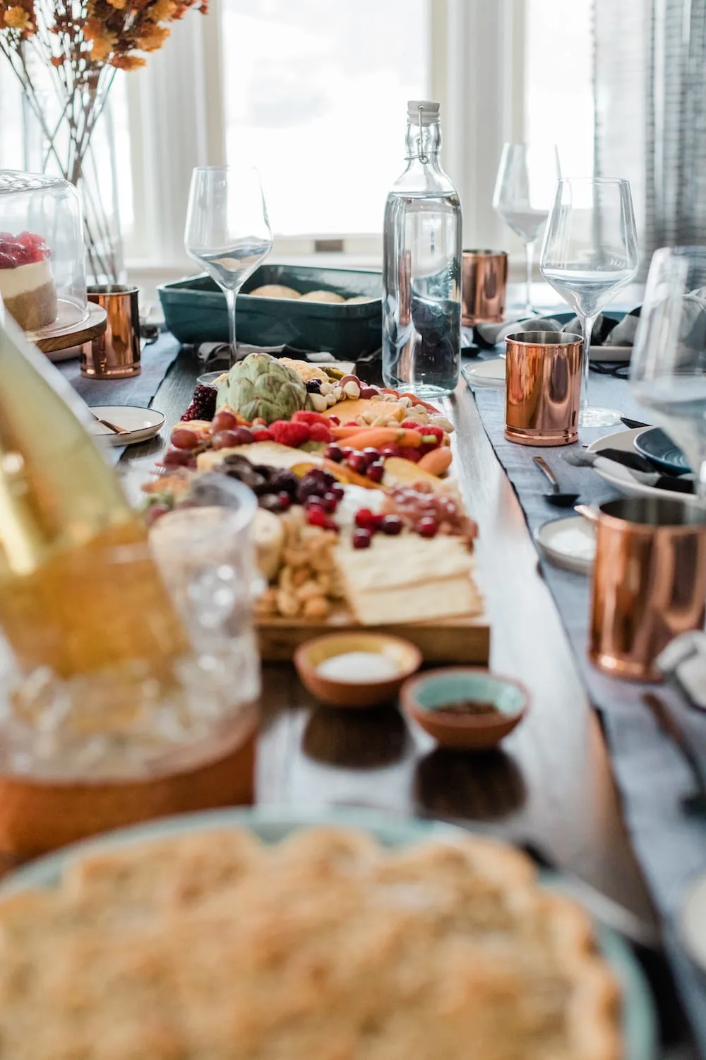
[[[573,902],[475,836],[214,830],[0,904],[0,1060],[618,1060]]]

